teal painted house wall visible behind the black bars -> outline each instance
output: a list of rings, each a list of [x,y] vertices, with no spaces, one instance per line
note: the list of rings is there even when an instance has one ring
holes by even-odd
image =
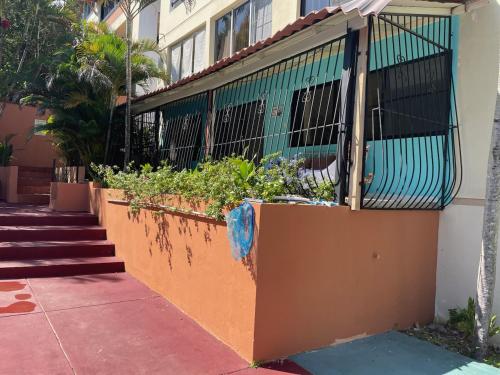
[[[459,19],[451,20],[452,34],[449,35],[445,21],[415,29],[440,44],[447,44],[451,38],[453,50],[452,75],[456,77],[456,53],[458,46]],[[383,33],[385,35],[385,33]],[[282,152],[285,157],[294,155],[331,154],[336,145],[290,147],[290,124],[295,117],[292,100],[294,92],[308,85],[321,85],[339,80],[342,73],[344,42],[333,42],[308,54],[283,61],[273,67],[249,77],[225,85],[214,92],[214,110],[224,110],[253,101],[265,100],[264,155]],[[409,51],[408,53],[406,51]],[[370,71],[397,64],[398,55],[405,55],[405,61],[430,56],[440,52],[432,43],[410,33],[391,36],[372,43],[370,49]],[[455,79],[454,79],[455,80]],[[206,96],[205,96],[206,98]],[[454,98],[452,98],[454,102]],[[198,111],[206,122],[206,100],[203,104],[185,100],[168,106],[166,116],[178,118]],[[273,116],[279,108],[281,115]],[[450,124],[456,123],[455,112],[451,111]],[[217,124],[224,126],[224,124]],[[448,137],[448,139],[447,139]],[[453,149],[451,136],[427,136],[368,142],[364,176],[371,182],[364,185],[367,197],[390,198],[394,195],[441,198],[441,189],[453,182]],[[447,189],[445,189],[447,190]],[[449,190],[449,189],[448,189]],[[410,201],[403,201],[409,203]]]

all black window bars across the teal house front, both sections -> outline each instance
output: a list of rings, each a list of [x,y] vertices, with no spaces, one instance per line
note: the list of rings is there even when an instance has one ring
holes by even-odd
[[[369,21],[362,207],[442,209],[461,183],[450,17]],[[207,158],[295,160],[303,194],[322,183],[344,203],[354,112],[357,32],[213,90],[134,116],[137,164],[177,170]],[[355,183],[353,181],[353,183]]]

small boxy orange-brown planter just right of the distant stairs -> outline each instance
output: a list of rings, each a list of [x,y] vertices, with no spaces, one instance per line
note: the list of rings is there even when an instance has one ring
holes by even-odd
[[[54,211],[89,211],[89,185],[50,183],[49,208]]]

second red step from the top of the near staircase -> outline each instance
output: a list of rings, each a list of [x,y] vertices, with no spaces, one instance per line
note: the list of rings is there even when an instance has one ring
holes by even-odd
[[[0,241],[95,241],[105,240],[99,226],[0,226]]]

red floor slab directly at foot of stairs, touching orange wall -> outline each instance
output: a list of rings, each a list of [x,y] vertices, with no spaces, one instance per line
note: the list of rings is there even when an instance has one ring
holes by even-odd
[[[158,296],[126,273],[29,279],[46,311]]]

